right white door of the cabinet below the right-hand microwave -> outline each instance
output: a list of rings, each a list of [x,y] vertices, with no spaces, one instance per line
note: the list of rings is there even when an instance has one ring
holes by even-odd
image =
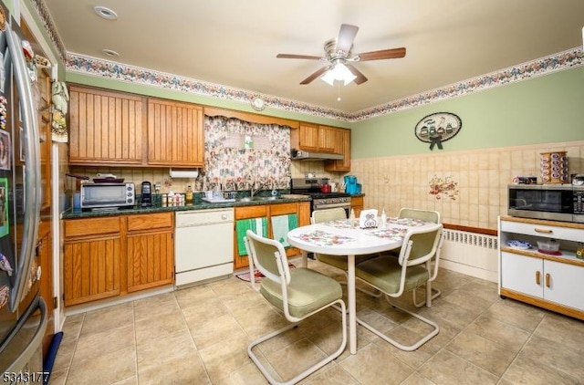
[[[544,261],[544,298],[584,310],[584,267]]]

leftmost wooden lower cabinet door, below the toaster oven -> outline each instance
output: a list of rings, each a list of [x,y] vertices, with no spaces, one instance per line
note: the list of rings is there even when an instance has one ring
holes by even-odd
[[[120,236],[65,242],[65,305],[120,295]]]

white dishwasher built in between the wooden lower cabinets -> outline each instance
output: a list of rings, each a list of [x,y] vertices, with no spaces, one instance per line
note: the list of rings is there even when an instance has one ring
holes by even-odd
[[[176,286],[233,274],[233,208],[176,212],[174,219]]]

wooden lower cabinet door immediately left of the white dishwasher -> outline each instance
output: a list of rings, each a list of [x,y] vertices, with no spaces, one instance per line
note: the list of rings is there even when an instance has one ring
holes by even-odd
[[[128,234],[127,247],[129,293],[172,284],[172,230],[152,234]]]

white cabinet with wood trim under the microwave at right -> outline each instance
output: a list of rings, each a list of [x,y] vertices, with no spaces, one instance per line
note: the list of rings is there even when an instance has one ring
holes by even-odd
[[[537,251],[537,239],[554,238],[561,255]],[[516,249],[509,240],[534,247]],[[584,260],[575,250],[584,242],[584,224],[499,218],[499,294],[571,317],[584,319]]]

